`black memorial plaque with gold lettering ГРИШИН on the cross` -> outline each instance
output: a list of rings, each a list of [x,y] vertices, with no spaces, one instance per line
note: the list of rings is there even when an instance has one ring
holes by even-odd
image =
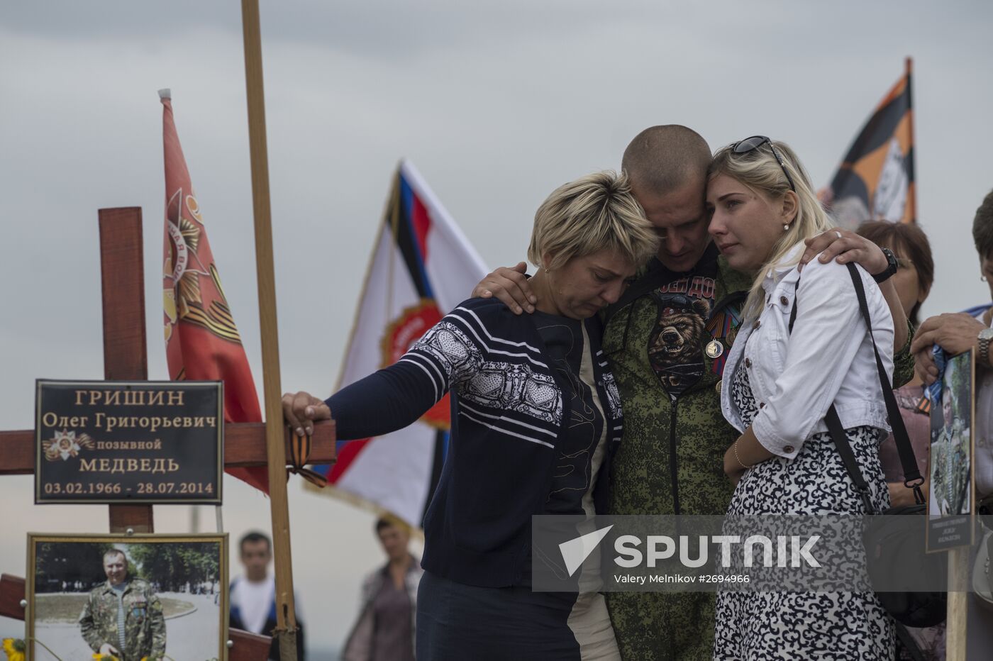
[[[39,379],[35,502],[219,505],[222,388]]]

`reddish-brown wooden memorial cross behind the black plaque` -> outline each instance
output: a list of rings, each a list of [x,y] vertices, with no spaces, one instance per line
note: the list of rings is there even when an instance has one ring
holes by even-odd
[[[99,227],[103,376],[107,380],[147,380],[141,208],[102,208],[99,210]],[[289,430],[286,431],[285,447],[285,463],[292,463]],[[35,456],[34,430],[0,431],[0,475],[34,472]],[[314,428],[309,463],[334,461],[334,422],[318,424]],[[267,463],[264,423],[224,425],[225,467]],[[284,502],[280,504],[285,506],[285,483],[281,486],[282,489],[273,489],[272,497],[279,497],[277,492],[281,492]],[[129,529],[136,533],[155,531],[151,505],[110,505],[109,510],[111,533],[125,533]],[[288,530],[288,524],[286,528]],[[277,534],[275,529],[273,533],[274,536]],[[24,619],[24,607],[21,605],[24,596],[24,579],[6,574],[0,577],[0,615]],[[231,661],[262,661],[268,658],[269,636],[231,629],[227,637],[233,643],[228,657]]]

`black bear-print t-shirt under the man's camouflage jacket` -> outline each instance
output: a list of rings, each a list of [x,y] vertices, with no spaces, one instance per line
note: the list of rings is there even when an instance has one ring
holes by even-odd
[[[657,316],[648,334],[648,362],[662,388],[678,397],[703,376],[705,330],[714,308],[717,251],[704,253],[690,273],[668,272],[651,292]]]

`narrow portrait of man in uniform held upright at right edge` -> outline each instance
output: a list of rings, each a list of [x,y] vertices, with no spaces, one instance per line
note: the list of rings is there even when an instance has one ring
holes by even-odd
[[[975,514],[975,361],[966,351],[945,361],[940,397],[931,402],[927,551],[972,543]]]

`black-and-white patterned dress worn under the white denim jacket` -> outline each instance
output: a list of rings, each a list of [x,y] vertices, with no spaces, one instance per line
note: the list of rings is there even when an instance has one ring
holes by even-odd
[[[747,370],[736,370],[732,396],[745,425],[758,413]],[[879,461],[880,432],[846,430],[855,459],[869,482],[877,511],[890,506]],[[863,514],[865,505],[841,463],[830,435],[815,434],[792,460],[773,458],[747,470],[729,515]],[[873,593],[720,592],[715,659],[860,659],[894,657],[890,615]]]

